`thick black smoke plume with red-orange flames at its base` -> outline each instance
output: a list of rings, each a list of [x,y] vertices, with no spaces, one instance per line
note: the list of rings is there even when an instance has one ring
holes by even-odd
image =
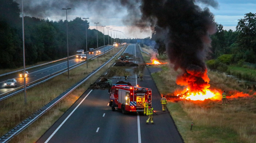
[[[216,27],[209,8],[202,9],[196,3],[218,6],[214,0],[142,0],[141,19],[135,25],[157,25],[165,31],[161,37],[170,62],[175,70],[183,70],[176,83],[198,92],[210,87],[204,59],[211,43],[209,35],[215,33]]]

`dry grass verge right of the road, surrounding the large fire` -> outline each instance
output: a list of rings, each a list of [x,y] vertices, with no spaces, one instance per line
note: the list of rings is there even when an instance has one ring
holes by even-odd
[[[146,55],[149,56],[149,55]],[[143,57],[144,58],[144,57]],[[166,61],[168,62],[168,61]],[[236,80],[225,74],[209,71],[211,88],[225,89],[232,104],[221,105],[220,101],[180,100],[171,97],[184,87],[178,86],[179,71],[161,65],[162,71],[152,77],[161,95],[167,95],[168,110],[185,143],[255,143],[256,142],[256,96],[244,89]],[[244,92],[244,93],[241,93]],[[247,97],[236,97],[246,94]],[[190,131],[191,123],[193,129]]]

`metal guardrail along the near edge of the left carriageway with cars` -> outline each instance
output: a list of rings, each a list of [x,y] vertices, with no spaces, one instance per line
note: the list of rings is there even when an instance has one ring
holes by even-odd
[[[110,50],[113,50],[113,47],[111,47],[111,49],[109,49],[109,51],[110,51]],[[108,52],[108,50],[105,51],[105,53],[107,53],[107,52]],[[103,53],[104,53],[104,52],[103,52]],[[103,53],[101,53],[99,56],[103,55]],[[91,58],[89,58],[89,59],[92,59],[92,60],[93,60],[93,59],[95,59],[95,58],[97,58],[97,55],[95,55],[95,56],[93,56],[93,57],[91,57]],[[76,68],[76,67],[81,66],[81,65],[83,65],[83,64],[85,64],[85,63],[86,63],[86,61],[85,61],[85,62],[82,62],[82,63],[77,63],[76,66],[74,65],[74,67],[69,68],[69,69]],[[67,69],[67,68],[66,68],[66,69]],[[63,69],[63,70],[65,70],[65,69]],[[43,81],[40,81],[40,82],[37,82],[37,83],[33,83],[33,84],[29,84],[29,85],[27,85],[26,89],[32,88],[32,87],[34,87],[34,86],[36,86],[36,85],[38,85],[38,84],[41,84],[41,83],[43,83],[43,82],[46,82],[46,81],[52,79],[53,77],[56,77],[56,76],[58,76],[58,75],[61,75],[61,74],[65,73],[66,71],[68,71],[68,70],[62,71],[61,73],[56,74],[56,75],[54,75],[54,76],[51,76],[51,77],[49,77],[49,78],[47,78],[47,79],[45,79],[45,80],[43,80]],[[58,73],[58,72],[60,72],[60,71],[57,71],[56,73]],[[53,74],[55,74],[55,73],[53,73]],[[45,77],[43,77],[43,78],[45,78]],[[40,78],[40,79],[42,79],[42,78]],[[39,80],[40,80],[40,79],[39,79]],[[7,98],[9,98],[9,97],[12,97],[12,96],[14,96],[14,95],[16,95],[16,94],[18,94],[18,93],[20,93],[20,92],[22,92],[22,91],[24,91],[24,88],[15,90],[15,91],[13,91],[13,92],[11,92],[11,93],[8,93],[8,94],[6,94],[6,95],[4,95],[4,96],[1,96],[1,97],[0,97],[0,101],[2,101],[2,100],[4,100],[4,99],[7,99]],[[0,143],[1,143],[1,142],[0,142]]]

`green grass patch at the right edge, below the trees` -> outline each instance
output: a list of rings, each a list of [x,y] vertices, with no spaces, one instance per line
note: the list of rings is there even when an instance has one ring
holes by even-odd
[[[245,80],[256,81],[256,70],[238,66],[229,66],[228,73]]]

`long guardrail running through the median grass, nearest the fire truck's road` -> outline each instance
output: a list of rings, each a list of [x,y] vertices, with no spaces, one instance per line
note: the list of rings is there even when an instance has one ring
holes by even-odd
[[[113,49],[113,48],[112,48]],[[110,51],[110,50],[109,50]],[[36,111],[34,114],[29,116],[26,120],[22,121],[19,125],[8,131],[5,135],[3,135],[0,138],[0,143],[7,143],[9,142],[15,135],[18,135],[22,130],[26,129],[29,125],[31,125],[34,121],[36,121],[40,116],[45,114],[50,108],[52,108],[54,105],[59,103],[63,98],[65,98],[69,93],[71,93],[73,90],[75,90],[78,86],[80,86],[82,83],[84,83],[88,78],[93,76],[97,71],[99,71],[101,68],[103,68],[107,63],[109,63],[112,59],[116,57],[117,54],[119,54],[122,50],[120,50],[118,53],[116,53],[111,59],[106,61],[103,65],[98,67],[95,71],[84,77],[79,82],[75,83],[73,86],[71,86],[69,89],[67,89],[65,92],[61,93],[58,97],[50,101],[48,104],[43,106],[41,109]]]

